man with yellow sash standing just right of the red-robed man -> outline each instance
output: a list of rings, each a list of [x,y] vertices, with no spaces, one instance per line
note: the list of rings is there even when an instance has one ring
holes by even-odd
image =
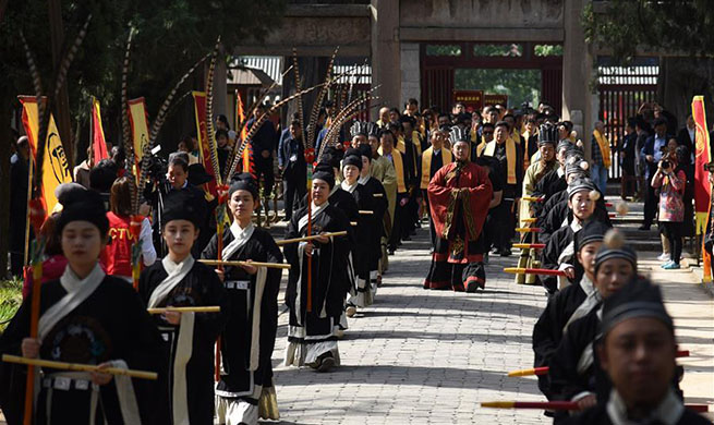
[[[494,141],[486,144],[482,155],[495,157],[500,162],[501,175],[506,177],[504,198],[494,211],[496,233],[494,245],[496,253],[510,256],[510,244],[516,230],[517,199],[521,197],[523,182],[523,150],[510,137],[510,127],[506,121],[496,123]]]

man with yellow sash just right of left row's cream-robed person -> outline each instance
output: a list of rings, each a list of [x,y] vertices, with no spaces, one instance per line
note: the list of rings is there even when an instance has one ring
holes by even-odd
[[[382,130],[379,132],[379,149],[377,153],[387,158],[394,166],[397,174],[397,198],[395,205],[394,221],[391,233],[389,234],[389,254],[394,254],[397,246],[401,242],[402,229],[406,222],[406,206],[409,202],[409,182],[408,168],[404,166],[404,160],[401,153],[395,149],[395,134],[389,130]]]

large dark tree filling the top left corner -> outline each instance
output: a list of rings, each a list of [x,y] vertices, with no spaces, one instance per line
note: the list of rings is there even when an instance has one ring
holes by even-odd
[[[68,89],[74,132],[86,125],[90,96],[101,99],[108,133],[119,134],[121,62],[131,27],[135,28],[130,72],[130,98],[145,96],[149,117],[171,86],[221,35],[223,46],[246,37],[261,38],[279,24],[286,0],[85,0],[62,1],[64,37],[73,39],[92,13],[87,36],[70,69]],[[50,33],[46,0],[0,2],[0,270],[5,270],[9,226],[8,167],[11,119],[17,95],[34,94],[19,34],[34,52],[45,90],[52,84]],[[203,88],[203,80],[190,83]],[[189,87],[185,87],[189,89]],[[112,130],[114,129],[114,130]],[[117,138],[114,138],[118,142]],[[62,141],[68,149],[71,141]]]

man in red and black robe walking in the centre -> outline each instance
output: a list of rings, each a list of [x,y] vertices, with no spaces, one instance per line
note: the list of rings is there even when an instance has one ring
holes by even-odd
[[[453,127],[449,138],[455,161],[439,169],[427,189],[436,243],[424,288],[475,292],[486,283],[481,231],[493,186],[488,171],[469,161],[467,132]]]

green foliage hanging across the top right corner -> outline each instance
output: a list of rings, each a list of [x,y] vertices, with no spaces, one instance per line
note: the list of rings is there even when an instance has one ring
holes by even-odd
[[[638,48],[714,53],[714,8],[709,0],[610,0],[604,13],[589,2],[582,15],[585,40],[612,50],[616,63],[631,64]]]

